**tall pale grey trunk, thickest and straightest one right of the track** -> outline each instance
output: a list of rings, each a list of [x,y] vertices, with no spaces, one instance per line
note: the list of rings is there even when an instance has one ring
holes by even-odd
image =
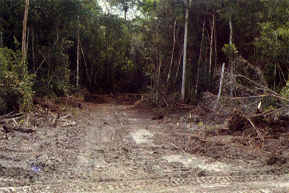
[[[187,5],[187,1],[184,0],[186,4],[186,23],[185,23],[185,36],[184,36],[184,55],[183,55],[183,77],[182,77],[182,84],[181,84],[181,102],[183,103],[185,100],[185,81],[186,81],[186,58],[187,58],[187,38],[188,38],[188,18],[189,18],[189,11],[190,5],[192,0],[190,0],[189,5]]]

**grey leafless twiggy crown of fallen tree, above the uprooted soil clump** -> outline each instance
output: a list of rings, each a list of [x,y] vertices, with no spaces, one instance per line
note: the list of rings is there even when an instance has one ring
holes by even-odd
[[[234,110],[238,110],[249,118],[261,117],[274,112],[286,114],[289,111],[289,99],[284,98],[268,87],[266,79],[259,68],[251,65],[242,57],[237,57],[233,62],[236,67],[234,73],[226,69],[223,73],[221,95],[204,93],[203,99],[207,107],[210,107],[217,114],[223,113],[227,115],[230,115]],[[222,76],[221,69],[216,72],[216,75],[218,75],[218,78]],[[234,88],[233,96],[230,96],[231,88]],[[276,101],[275,106],[278,109],[254,115],[256,105],[265,97],[266,100]],[[268,108],[266,103],[263,103],[261,109],[266,108]]]

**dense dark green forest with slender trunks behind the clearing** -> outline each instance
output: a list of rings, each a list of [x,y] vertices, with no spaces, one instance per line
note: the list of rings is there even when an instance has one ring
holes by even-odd
[[[289,101],[288,0],[2,0],[0,12],[0,114],[88,92]]]

